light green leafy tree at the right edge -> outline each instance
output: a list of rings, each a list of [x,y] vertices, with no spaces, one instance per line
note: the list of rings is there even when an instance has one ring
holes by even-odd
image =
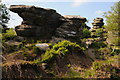
[[[105,13],[106,30],[108,31],[108,43],[120,46],[120,1],[111,7],[111,11]]]

